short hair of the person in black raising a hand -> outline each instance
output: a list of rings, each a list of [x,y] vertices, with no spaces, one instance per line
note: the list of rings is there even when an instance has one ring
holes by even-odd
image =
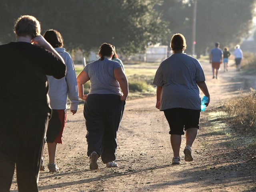
[[[31,15],[20,16],[14,24],[14,33],[16,36],[27,36],[31,38],[40,35],[40,22]]]

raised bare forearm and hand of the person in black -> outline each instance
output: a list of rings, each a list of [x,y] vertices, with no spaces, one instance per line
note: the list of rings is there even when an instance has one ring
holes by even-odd
[[[34,37],[31,42],[35,45],[35,46],[39,46],[41,48],[44,48],[46,50],[49,50],[50,52],[52,52],[54,55],[56,55],[63,63],[64,60],[62,58],[62,56],[60,56],[60,54],[58,54],[58,52],[51,46],[50,43],[48,43],[45,38],[42,35],[38,35],[36,37]]]

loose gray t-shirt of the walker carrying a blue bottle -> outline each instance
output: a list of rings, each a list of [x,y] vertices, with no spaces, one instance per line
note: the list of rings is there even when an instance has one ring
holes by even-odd
[[[162,87],[160,110],[186,108],[200,110],[200,92],[197,81],[205,81],[198,60],[183,53],[176,53],[162,61],[154,84]]]

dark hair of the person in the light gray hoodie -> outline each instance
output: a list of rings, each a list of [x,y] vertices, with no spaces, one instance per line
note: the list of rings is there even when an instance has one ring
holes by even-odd
[[[62,35],[57,30],[46,30],[46,32],[44,33],[44,38],[52,45],[53,48],[63,47]]]

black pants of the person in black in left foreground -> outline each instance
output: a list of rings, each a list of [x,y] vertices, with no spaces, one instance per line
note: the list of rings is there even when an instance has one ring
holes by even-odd
[[[19,192],[38,192],[48,116],[0,117],[0,191],[9,192],[16,164]]]

